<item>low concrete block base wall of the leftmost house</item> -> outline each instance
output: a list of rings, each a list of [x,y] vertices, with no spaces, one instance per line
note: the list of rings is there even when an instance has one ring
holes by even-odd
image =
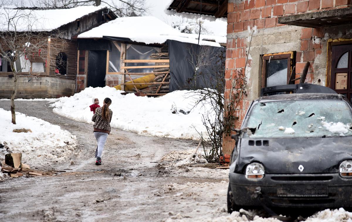
[[[16,98],[58,98],[72,96],[75,92],[75,80],[55,77],[23,77],[17,79]],[[0,98],[11,97],[13,77],[0,77]]]

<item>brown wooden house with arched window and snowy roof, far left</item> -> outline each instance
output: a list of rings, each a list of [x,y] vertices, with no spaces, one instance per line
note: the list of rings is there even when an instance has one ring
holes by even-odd
[[[117,18],[110,9],[101,6],[64,9],[4,8],[1,10],[6,10],[7,14],[23,13],[35,17],[36,21],[31,25],[35,28],[36,35],[48,41],[46,48],[25,55],[16,61],[15,68],[19,72],[16,98],[57,98],[73,95],[76,91],[79,57],[75,37]],[[2,16],[0,19],[4,24],[8,18]],[[43,53],[46,54],[43,56]],[[0,98],[10,98],[12,91],[11,68],[9,63],[2,58]]]

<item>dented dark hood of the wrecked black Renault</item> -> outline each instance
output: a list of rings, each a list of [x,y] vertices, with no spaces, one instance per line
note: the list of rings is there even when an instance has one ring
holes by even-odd
[[[262,163],[268,174],[337,173],[342,161],[352,159],[352,137],[242,138],[238,145],[238,173],[243,173],[252,162]],[[300,165],[303,171],[298,169]]]

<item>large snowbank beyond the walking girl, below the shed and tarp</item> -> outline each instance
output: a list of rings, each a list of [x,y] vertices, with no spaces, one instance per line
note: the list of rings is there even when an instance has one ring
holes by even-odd
[[[59,101],[51,106],[59,115],[93,124],[91,121],[93,112],[89,108],[89,105],[92,105],[92,98],[98,98],[102,106],[103,99],[109,97],[112,100],[110,109],[113,111],[111,120],[113,128],[143,135],[180,139],[196,139],[199,137],[197,131],[206,135],[206,129],[201,121],[204,108],[197,106],[188,115],[171,112],[172,106],[182,108],[184,111],[190,110],[196,101],[195,97],[190,96],[195,95],[195,92],[174,91],[158,98],[140,97],[133,93],[122,95],[121,92],[123,91],[108,86],[88,87],[71,97],[59,98]]]

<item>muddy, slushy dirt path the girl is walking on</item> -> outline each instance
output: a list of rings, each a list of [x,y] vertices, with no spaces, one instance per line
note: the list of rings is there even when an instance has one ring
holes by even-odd
[[[194,149],[196,141],[112,129],[104,164],[96,166],[92,125],[56,115],[47,102],[15,104],[16,111],[76,135],[81,152],[74,165],[53,166],[72,169],[66,173],[0,183],[1,221],[193,221],[225,214],[226,172],[157,167],[163,155]],[[9,110],[10,102],[0,101],[0,107]]]

